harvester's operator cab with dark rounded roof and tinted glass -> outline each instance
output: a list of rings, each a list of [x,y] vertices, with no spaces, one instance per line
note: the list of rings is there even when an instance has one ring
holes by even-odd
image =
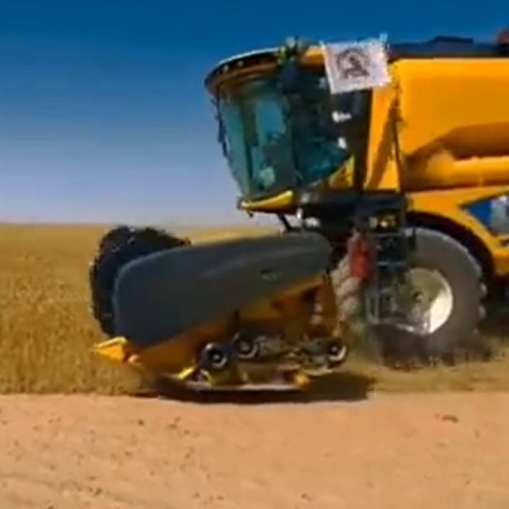
[[[339,122],[369,119],[369,93],[331,94],[318,47],[296,49],[286,59],[278,49],[233,57],[209,74],[206,85],[223,153],[252,208],[341,172],[356,154]]]

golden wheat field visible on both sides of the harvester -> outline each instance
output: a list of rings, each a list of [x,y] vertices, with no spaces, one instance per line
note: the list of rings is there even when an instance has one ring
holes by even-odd
[[[107,227],[0,226],[0,392],[131,393],[134,371],[98,358],[104,339],[89,312],[88,264]],[[257,235],[259,228],[189,230],[194,241]],[[509,390],[509,361],[399,373],[361,358],[348,370],[379,390]]]

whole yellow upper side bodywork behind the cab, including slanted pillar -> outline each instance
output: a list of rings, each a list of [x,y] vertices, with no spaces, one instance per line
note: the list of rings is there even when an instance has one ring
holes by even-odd
[[[509,184],[509,59],[404,59],[390,71],[373,91],[366,189]]]

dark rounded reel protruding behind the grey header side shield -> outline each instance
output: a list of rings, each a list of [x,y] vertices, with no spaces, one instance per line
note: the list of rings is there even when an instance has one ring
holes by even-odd
[[[163,230],[127,226],[113,228],[100,240],[98,254],[90,264],[89,284],[93,316],[105,334],[115,336],[112,296],[119,269],[147,254],[188,244],[189,240]]]

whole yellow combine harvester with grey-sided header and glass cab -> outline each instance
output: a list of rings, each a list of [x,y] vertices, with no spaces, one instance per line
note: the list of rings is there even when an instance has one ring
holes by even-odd
[[[422,360],[468,348],[509,273],[507,41],[289,40],[206,88],[238,206],[283,231],[115,228],[90,271],[98,353],[245,389],[332,373],[359,322]]]

